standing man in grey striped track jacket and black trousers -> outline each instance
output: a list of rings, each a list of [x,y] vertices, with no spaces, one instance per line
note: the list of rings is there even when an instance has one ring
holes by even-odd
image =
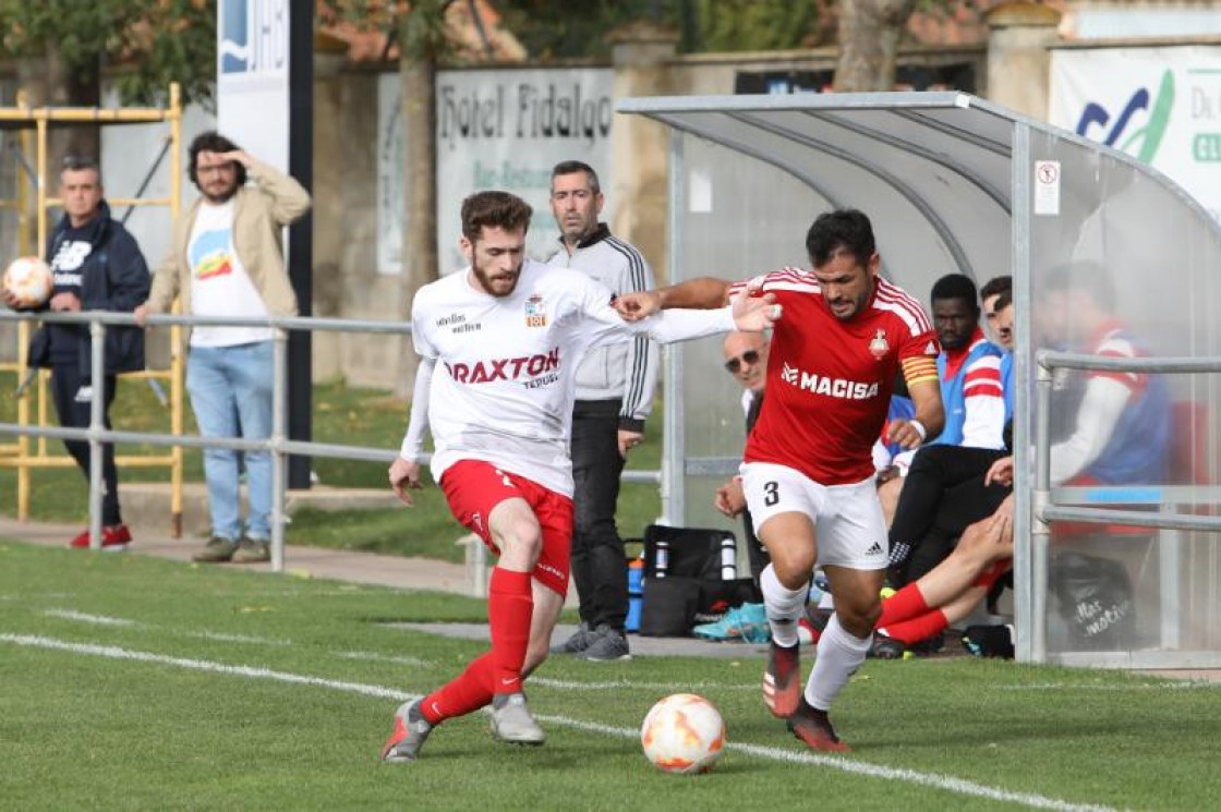
[[[597,172],[580,161],[557,164],[551,210],[560,248],[551,258],[589,274],[615,294],[647,291],[653,272],[640,252],[598,221],[604,198]],[[628,453],[645,437],[645,418],[657,388],[657,346],[643,336],[586,355],[576,371],[573,409],[573,580],[580,598],[580,629],[553,651],[585,659],[630,657],[628,559],[615,526],[619,476]]]

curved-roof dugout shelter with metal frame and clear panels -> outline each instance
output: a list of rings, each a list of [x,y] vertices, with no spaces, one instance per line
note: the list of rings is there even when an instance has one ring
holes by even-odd
[[[1018,659],[1221,667],[1221,226],[1210,212],[1123,153],[962,93],[654,96],[618,110],[669,127],[670,281],[806,267],[806,231],[832,208],[869,215],[883,274],[926,304],[945,274],[977,285],[1011,274]],[[1045,338],[1074,333],[1071,310],[1044,300],[1065,274],[1107,297],[1142,358]],[[734,526],[712,508],[742,444],[740,391],[720,360],[713,339],[668,352],[662,479],[675,524]],[[1055,391],[1074,374],[1165,388],[1149,430],[1168,437],[1164,474],[1053,487]]]

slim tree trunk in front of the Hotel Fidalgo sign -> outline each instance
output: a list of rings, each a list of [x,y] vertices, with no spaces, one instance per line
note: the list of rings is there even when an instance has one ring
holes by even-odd
[[[419,13],[419,12],[413,12]],[[410,15],[409,15],[410,16]],[[407,42],[404,37],[400,42]],[[437,164],[436,164],[436,54],[403,49],[399,77],[403,88],[403,303],[437,278]],[[458,236],[453,234],[457,239]],[[415,386],[418,359],[410,339],[403,341],[397,376],[400,397]]]

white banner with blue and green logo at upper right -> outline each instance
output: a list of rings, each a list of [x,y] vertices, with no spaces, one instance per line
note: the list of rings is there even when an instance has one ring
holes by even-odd
[[[1049,121],[1154,166],[1221,220],[1221,46],[1055,50]]]

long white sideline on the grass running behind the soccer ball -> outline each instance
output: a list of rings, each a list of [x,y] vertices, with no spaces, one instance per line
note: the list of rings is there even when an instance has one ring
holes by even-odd
[[[0,634],[0,642],[11,642],[18,646],[33,646],[37,648],[68,651],[77,654],[110,657],[111,659],[133,659],[138,662],[159,663],[162,665],[177,665],[179,668],[187,668],[190,670],[211,672],[216,674],[231,674],[234,676],[270,679],[278,683],[289,683],[293,685],[313,685],[316,687],[328,687],[338,691],[347,691],[349,694],[360,694],[363,696],[398,700],[400,702],[407,702],[418,698],[418,695],[407,694],[405,691],[396,691],[394,689],[382,687],[380,685],[330,680],[330,679],[322,679],[321,676],[309,676],[305,674],[289,674],[287,672],[271,670],[270,668],[253,668],[249,665],[225,665],[222,663],[214,663],[204,659],[168,657],[166,654],[154,654],[151,652],[144,652],[144,651],[131,651],[129,648],[120,648],[118,646],[95,646],[92,643],[70,642],[66,640],[55,640],[53,637],[44,637],[40,635]],[[569,717],[563,717],[563,716],[538,716],[536,718],[540,722],[547,722],[549,724],[557,724],[565,728],[574,728],[576,730],[585,730],[587,733],[600,733],[603,735],[619,736],[621,739],[640,738],[640,731],[635,729],[612,728],[610,725],[597,724],[593,722],[584,722],[581,719],[571,719]],[[922,786],[929,786],[933,789],[957,792],[960,795],[983,797],[991,801],[1001,801],[1007,803],[1018,803],[1037,810],[1062,810],[1065,812],[1070,811],[1114,812],[1111,807],[1106,806],[1094,806],[1089,803],[1071,803],[1068,801],[1048,797],[1045,795],[1037,795],[1034,792],[1015,792],[1011,790],[1001,790],[991,786],[984,786],[983,784],[976,784],[974,781],[968,781],[961,778],[954,778],[952,775],[938,775],[935,773],[921,773],[913,769],[882,767],[878,764],[868,764],[866,762],[852,761],[851,758],[841,756],[821,756],[808,751],[783,750],[780,747],[767,747],[763,745],[733,744],[733,742],[728,745],[728,749],[734,752],[747,753],[750,756],[756,756],[758,758],[767,758],[770,761],[783,761],[796,764],[816,764],[818,767],[839,769],[845,773],[855,773],[857,775],[866,775],[868,778],[880,778],[885,780],[906,781],[908,784],[919,784]]]

